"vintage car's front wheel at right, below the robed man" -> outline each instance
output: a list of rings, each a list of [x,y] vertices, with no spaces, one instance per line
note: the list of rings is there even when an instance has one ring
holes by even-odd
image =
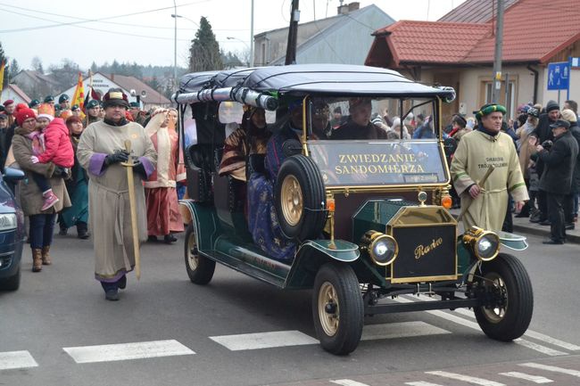
[[[526,333],[534,311],[534,292],[524,265],[514,256],[500,253],[483,263],[479,279],[483,285],[496,285],[502,304],[474,310],[477,324],[485,335],[497,341],[513,341]]]

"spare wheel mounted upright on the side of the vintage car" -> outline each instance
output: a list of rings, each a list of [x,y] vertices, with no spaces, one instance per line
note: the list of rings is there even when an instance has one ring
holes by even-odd
[[[322,175],[313,160],[302,154],[284,160],[274,197],[278,223],[288,239],[319,238],[327,219],[326,196]]]

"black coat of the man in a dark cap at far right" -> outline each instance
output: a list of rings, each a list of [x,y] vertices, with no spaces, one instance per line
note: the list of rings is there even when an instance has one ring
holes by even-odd
[[[538,158],[545,165],[540,177],[540,189],[548,193],[570,193],[577,156],[578,144],[570,131],[554,138],[550,152],[538,152]]]

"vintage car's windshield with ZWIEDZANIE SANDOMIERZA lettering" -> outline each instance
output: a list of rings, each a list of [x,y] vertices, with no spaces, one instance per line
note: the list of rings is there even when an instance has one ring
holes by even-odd
[[[433,111],[435,100],[312,98],[307,147],[327,187],[445,184]]]

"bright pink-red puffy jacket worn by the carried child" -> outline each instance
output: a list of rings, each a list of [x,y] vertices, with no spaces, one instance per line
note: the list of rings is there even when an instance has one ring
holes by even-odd
[[[38,161],[53,161],[62,168],[74,165],[74,151],[70,144],[69,128],[60,118],[53,119],[45,129],[45,151],[38,155]]]

